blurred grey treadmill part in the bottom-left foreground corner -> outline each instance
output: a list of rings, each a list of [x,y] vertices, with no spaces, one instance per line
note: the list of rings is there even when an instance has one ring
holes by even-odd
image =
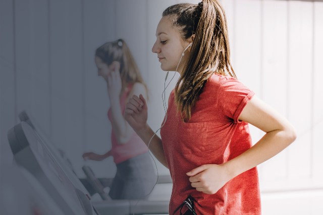
[[[26,169],[2,164],[0,213],[10,215],[66,214],[56,201]]]

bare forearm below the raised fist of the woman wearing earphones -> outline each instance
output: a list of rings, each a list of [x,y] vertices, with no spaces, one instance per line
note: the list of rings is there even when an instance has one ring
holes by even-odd
[[[161,164],[163,164],[165,167],[168,168],[168,164],[164,153],[164,148],[163,148],[163,145],[161,144],[161,139],[156,134],[154,135],[154,131],[149,127],[149,125],[146,124],[146,126],[143,129],[136,132],[138,136],[147,145],[147,147],[155,156],[155,158],[157,158],[157,160]]]

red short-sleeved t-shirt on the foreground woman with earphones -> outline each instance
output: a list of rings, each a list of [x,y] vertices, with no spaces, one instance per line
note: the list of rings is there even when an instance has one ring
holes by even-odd
[[[197,214],[261,214],[256,167],[212,195],[196,191],[186,175],[203,164],[223,164],[252,146],[248,123],[238,118],[253,95],[236,79],[214,74],[192,108],[190,121],[183,122],[172,91],[168,117],[160,130],[173,179],[170,214],[180,214],[180,210],[174,211],[189,195],[196,200]]]

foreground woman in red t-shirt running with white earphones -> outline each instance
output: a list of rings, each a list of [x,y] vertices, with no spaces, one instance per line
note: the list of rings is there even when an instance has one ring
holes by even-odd
[[[256,166],[296,138],[293,126],[237,81],[217,0],[167,8],[152,52],[177,71],[160,136],[134,95],[125,118],[173,179],[170,214],[260,214]],[[168,75],[168,74],[167,74]],[[252,146],[248,123],[265,132]]]

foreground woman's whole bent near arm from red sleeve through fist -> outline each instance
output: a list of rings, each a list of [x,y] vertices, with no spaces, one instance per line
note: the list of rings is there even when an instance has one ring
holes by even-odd
[[[239,120],[258,127],[266,134],[249,150],[224,164],[206,164],[188,172],[191,185],[196,190],[216,193],[229,180],[277,155],[296,139],[293,126],[256,97],[244,107]]]

